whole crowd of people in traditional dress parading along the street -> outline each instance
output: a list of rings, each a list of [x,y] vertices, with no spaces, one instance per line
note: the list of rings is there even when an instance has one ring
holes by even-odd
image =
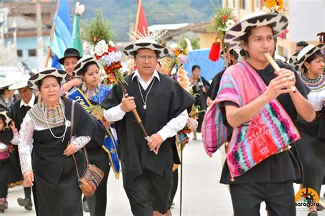
[[[105,215],[108,175],[118,175],[121,163],[133,215],[171,215],[178,182],[172,146],[199,105],[208,111],[200,113],[197,132],[217,137],[204,144],[211,152],[221,148],[220,183],[229,185],[234,215],[259,215],[261,202],[269,215],[296,215],[293,183],[320,194],[325,182],[324,44],[299,42],[290,64],[277,62],[275,71],[265,53],[274,56],[287,25],[285,16],[260,13],[230,28],[230,66],[209,83],[194,65],[194,97],[159,71],[158,59],[169,51],[150,38],[124,49],[136,66],[125,77],[128,95],[102,85],[97,60],[72,48],[59,61],[64,70],[1,81],[0,212],[8,208],[8,187],[23,184],[25,198],[17,201],[32,210],[33,192],[37,215],[82,215],[83,208]],[[104,118],[95,118],[91,105]],[[117,149],[105,150],[107,143]],[[76,169],[86,169],[84,154],[104,177],[82,199]],[[308,215],[323,210],[313,201]]]

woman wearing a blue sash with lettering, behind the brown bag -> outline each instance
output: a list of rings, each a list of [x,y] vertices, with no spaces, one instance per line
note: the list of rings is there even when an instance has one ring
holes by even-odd
[[[100,84],[101,80],[99,66],[91,55],[87,55],[79,59],[75,69],[73,70],[73,77],[81,78],[83,83],[80,87],[73,87],[73,89],[67,94],[67,97],[82,104],[87,111],[90,111],[89,108],[92,105],[101,105],[110,92],[109,87]],[[101,180],[95,194],[87,200],[92,216],[104,216],[106,215],[107,180],[110,172],[110,164],[115,164],[118,166],[114,167],[112,165],[112,168],[114,168],[113,171],[116,175],[118,175],[119,160],[117,154],[115,154],[115,157],[112,156],[112,151],[103,146],[104,141],[101,143],[99,141],[93,141],[94,139],[104,139],[104,137],[107,135],[105,142],[115,144],[115,147],[117,147],[117,142],[110,132],[108,122],[98,122],[97,124],[99,127],[99,133],[97,133],[97,135],[93,137],[93,139],[91,139],[87,145],[87,152],[91,164],[95,164],[97,167],[99,167],[99,169],[104,171],[104,178]],[[106,134],[104,126],[107,129]]]

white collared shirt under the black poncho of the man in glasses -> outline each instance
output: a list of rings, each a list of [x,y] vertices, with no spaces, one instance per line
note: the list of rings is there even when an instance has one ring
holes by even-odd
[[[149,87],[150,83],[155,77],[158,79],[158,81],[160,81],[160,77],[158,75],[157,70],[154,70],[154,74],[147,82],[142,79],[142,77],[139,75],[138,70],[134,71],[132,80],[134,79],[134,77],[138,78],[139,83],[143,87],[143,90],[147,90],[147,87]],[[125,112],[121,109],[121,104],[110,109],[104,110],[104,116],[106,120],[108,120],[108,122],[117,122],[121,120],[124,115]],[[182,130],[186,125],[188,118],[189,114],[187,113],[187,110],[184,109],[182,113],[176,116],[176,118],[172,118],[165,126],[163,126],[163,129],[160,129],[160,131],[158,131],[157,133],[160,135],[160,137],[163,138],[163,141],[165,141],[167,138],[175,136],[178,131]]]

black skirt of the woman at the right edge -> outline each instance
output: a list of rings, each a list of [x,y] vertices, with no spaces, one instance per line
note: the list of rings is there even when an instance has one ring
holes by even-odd
[[[317,137],[319,121],[297,120],[302,139],[296,142],[296,150],[302,165],[302,185],[317,193],[325,177],[325,139]]]

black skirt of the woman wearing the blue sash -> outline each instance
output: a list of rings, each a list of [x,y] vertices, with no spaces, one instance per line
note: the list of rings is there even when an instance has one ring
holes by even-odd
[[[96,165],[104,172],[104,178],[98,185],[95,194],[91,198],[87,198],[89,211],[91,216],[105,216],[107,205],[107,180],[110,174],[110,165],[108,154],[102,148],[87,148],[89,161]]]

